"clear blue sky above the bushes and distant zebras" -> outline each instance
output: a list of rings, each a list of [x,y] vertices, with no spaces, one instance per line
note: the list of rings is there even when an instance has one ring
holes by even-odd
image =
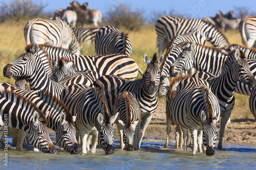
[[[54,12],[59,8],[67,8],[72,0],[33,0],[35,2],[42,2],[48,4],[45,8],[47,12]],[[204,16],[215,16],[218,10],[226,13],[234,10],[236,7],[245,7],[249,12],[256,11],[254,0],[251,1],[237,1],[237,0],[190,0],[190,1],[174,1],[174,0],[77,0],[80,4],[89,2],[91,9],[100,10],[104,14],[110,9],[112,5],[126,3],[130,6],[131,10],[144,11],[145,17],[151,17],[153,12],[163,12],[167,14],[170,10],[174,9],[179,14],[189,16],[190,18],[203,18]]]

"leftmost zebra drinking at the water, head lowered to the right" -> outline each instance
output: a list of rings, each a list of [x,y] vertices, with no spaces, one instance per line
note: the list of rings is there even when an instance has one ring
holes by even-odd
[[[46,127],[47,118],[30,100],[10,90],[0,92],[0,116],[0,129],[7,131],[7,127],[11,127],[23,130],[24,133],[19,134],[23,136],[21,143],[29,133],[33,147],[42,153],[56,154]],[[0,131],[0,138],[4,131]],[[18,144],[16,150],[22,150],[22,144]]]

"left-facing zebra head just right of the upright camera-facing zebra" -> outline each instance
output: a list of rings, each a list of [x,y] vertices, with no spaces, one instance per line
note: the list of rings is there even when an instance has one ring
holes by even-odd
[[[187,46],[188,45],[188,46]],[[193,41],[190,45],[190,43],[183,43],[182,45],[183,51],[179,55],[179,57],[175,60],[175,62],[170,66],[169,74],[170,77],[177,77],[182,72],[185,72],[186,70],[193,67],[193,50],[196,47],[196,41]]]

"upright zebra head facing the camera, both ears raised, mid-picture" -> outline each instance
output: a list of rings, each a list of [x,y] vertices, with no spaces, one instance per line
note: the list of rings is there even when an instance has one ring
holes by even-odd
[[[163,56],[161,55],[157,60],[157,54],[155,53],[152,61],[147,55],[144,55],[144,62],[147,64],[146,71],[143,78],[146,80],[147,93],[155,94],[159,88],[160,81],[160,64],[163,62]]]

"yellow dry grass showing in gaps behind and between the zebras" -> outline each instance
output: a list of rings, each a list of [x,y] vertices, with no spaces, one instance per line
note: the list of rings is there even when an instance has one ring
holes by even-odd
[[[16,59],[19,55],[25,53],[24,47],[26,45],[23,29],[26,21],[20,22],[6,22],[0,24],[0,82],[14,83],[13,79],[8,79],[3,76],[3,68],[6,64]],[[146,64],[143,61],[143,56],[147,54],[150,58],[157,53],[157,35],[154,25],[145,25],[139,31],[127,31],[122,32],[129,33],[129,38],[133,44],[132,58],[138,63],[142,71],[145,71]],[[228,30],[225,33],[229,43],[242,44],[241,36],[238,30]],[[81,51],[82,55],[95,55],[94,43],[88,45]],[[83,45],[81,45],[83,46]],[[137,79],[141,78],[138,74]],[[160,99],[161,103],[165,103],[165,99]],[[231,120],[233,119],[254,119],[250,113],[248,106],[248,96],[236,94],[236,104],[231,114]]]

